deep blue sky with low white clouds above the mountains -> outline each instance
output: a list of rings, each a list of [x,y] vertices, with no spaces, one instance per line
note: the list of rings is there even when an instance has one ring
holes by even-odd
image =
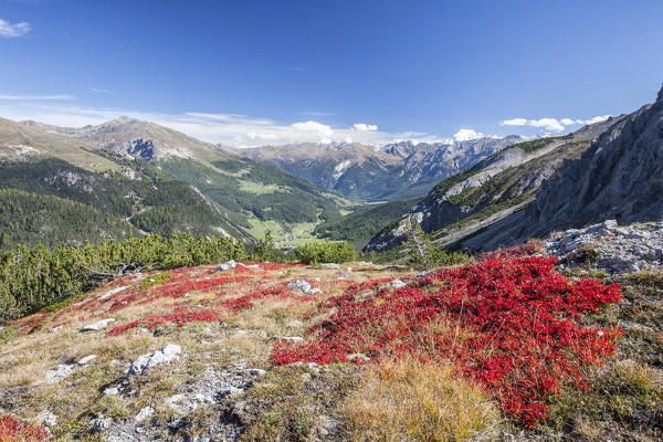
[[[0,0],[0,116],[238,146],[556,134],[654,99],[661,23],[660,0]]]

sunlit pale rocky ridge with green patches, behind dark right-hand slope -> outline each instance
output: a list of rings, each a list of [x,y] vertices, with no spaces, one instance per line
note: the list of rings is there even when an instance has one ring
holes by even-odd
[[[408,217],[414,217],[438,244],[457,245],[533,201],[565,160],[579,158],[598,134],[622,119],[610,118],[566,136],[509,146],[441,181]],[[406,238],[404,225],[404,220],[400,220],[386,227],[365,251],[380,252],[399,245]]]

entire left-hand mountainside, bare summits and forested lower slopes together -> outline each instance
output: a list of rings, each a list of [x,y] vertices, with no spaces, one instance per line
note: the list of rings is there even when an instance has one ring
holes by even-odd
[[[21,192],[30,207],[66,202],[74,203],[67,210],[77,212],[70,217],[77,220],[74,228],[64,215],[49,219],[23,208],[21,219],[29,228],[6,234],[6,246],[140,232],[230,235],[251,242],[267,224],[290,229],[339,218],[338,207],[346,203],[278,168],[127,117],[82,128],[0,119],[0,189],[12,192],[6,196],[9,200]],[[12,232],[17,215],[7,208],[0,220]]]

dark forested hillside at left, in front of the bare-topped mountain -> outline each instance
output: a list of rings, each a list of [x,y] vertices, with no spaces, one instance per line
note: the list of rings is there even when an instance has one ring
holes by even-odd
[[[1,162],[2,248],[80,244],[141,231],[248,238],[185,182],[140,161],[118,159],[117,166],[122,171],[98,173],[57,158]]]

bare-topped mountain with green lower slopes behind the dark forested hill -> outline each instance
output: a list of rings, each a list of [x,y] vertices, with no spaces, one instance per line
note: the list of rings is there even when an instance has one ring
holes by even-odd
[[[345,203],[277,167],[256,164],[221,147],[177,130],[128,117],[82,128],[23,122],[27,128],[48,130],[87,143],[97,149],[146,160],[169,176],[193,186],[239,230],[254,235],[266,225],[287,230],[291,224],[315,224],[340,217]]]

